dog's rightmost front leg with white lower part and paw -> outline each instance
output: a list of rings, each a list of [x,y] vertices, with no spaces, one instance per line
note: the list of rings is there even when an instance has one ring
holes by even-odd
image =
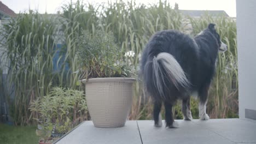
[[[199,103],[199,117],[201,120],[208,120],[210,117],[206,113],[206,104],[207,104],[207,96],[208,96],[208,89],[209,86],[203,87],[199,91],[199,98],[200,98],[200,103]]]

